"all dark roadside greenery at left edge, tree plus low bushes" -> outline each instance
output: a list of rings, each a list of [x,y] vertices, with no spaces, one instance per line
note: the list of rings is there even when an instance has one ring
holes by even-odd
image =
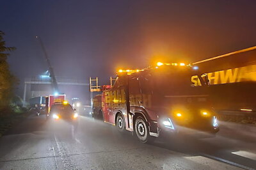
[[[27,109],[21,105],[21,99],[14,95],[18,80],[10,72],[7,62],[15,47],[6,47],[3,36],[3,31],[0,31],[0,136],[12,127],[13,123],[28,116]]]

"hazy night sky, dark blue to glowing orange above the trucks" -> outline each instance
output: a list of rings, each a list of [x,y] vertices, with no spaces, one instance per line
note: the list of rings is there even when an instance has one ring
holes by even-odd
[[[0,30],[17,47],[20,79],[45,72],[40,36],[58,76],[86,79],[144,68],[152,58],[198,61],[256,45],[256,1],[1,0]]]

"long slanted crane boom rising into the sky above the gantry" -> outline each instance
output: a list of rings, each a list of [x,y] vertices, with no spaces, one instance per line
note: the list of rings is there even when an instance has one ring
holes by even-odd
[[[60,94],[60,91],[59,91],[59,88],[58,88],[58,83],[56,81],[56,77],[55,77],[55,74],[54,74],[54,71],[53,71],[50,59],[49,59],[49,57],[47,55],[47,52],[45,50],[44,43],[42,42],[42,40],[41,40],[41,38],[39,36],[36,36],[36,39],[39,41],[39,43],[40,43],[40,45],[42,47],[42,50],[44,52],[44,56],[45,56],[47,65],[49,66],[49,73],[50,73],[50,77],[51,77],[51,82],[52,82],[52,87],[54,89],[54,93]]]

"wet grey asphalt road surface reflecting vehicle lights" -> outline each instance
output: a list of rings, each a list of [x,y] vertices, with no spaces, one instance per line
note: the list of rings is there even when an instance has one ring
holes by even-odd
[[[256,169],[256,127],[220,124],[216,137],[143,144],[92,118],[31,115],[0,138],[0,169]]]

